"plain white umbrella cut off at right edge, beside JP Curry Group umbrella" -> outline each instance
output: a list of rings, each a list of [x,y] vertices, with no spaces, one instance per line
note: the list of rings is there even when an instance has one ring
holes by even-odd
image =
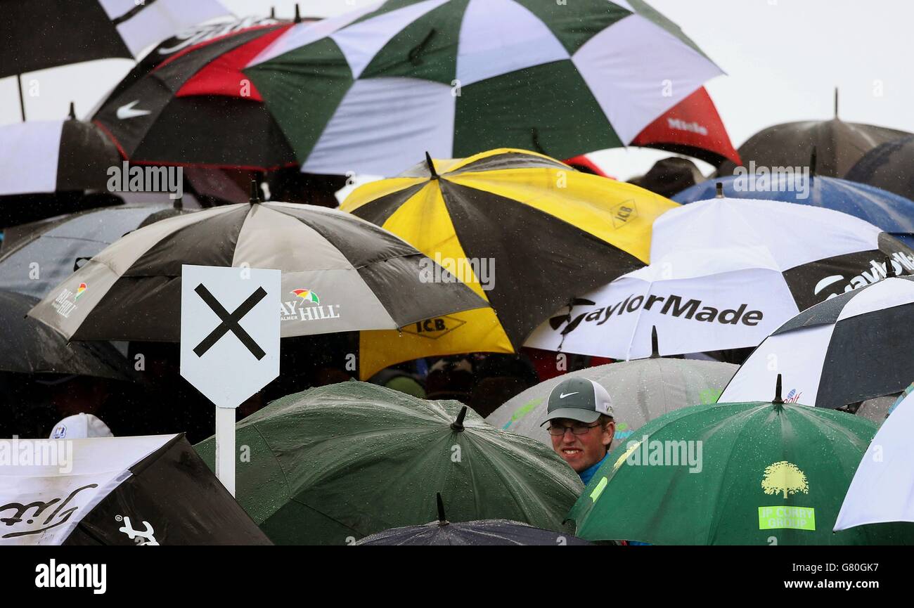
[[[914,522],[914,398],[887,418],[860,459],[834,529],[893,521]],[[865,528],[866,529],[866,528]]]

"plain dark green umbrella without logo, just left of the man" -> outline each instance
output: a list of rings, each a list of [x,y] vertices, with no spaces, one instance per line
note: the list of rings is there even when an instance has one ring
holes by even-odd
[[[237,427],[242,507],[278,544],[343,545],[435,512],[569,531],[582,487],[540,443],[495,429],[458,401],[426,401],[355,380],[283,397]],[[213,438],[197,445],[212,465]]]

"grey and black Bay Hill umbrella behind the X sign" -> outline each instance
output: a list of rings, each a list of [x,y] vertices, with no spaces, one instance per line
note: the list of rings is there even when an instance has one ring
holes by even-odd
[[[177,342],[183,264],[282,271],[282,336],[396,329],[486,305],[462,283],[421,281],[434,262],[387,230],[335,209],[255,200],[131,232],[29,315],[68,339]]]

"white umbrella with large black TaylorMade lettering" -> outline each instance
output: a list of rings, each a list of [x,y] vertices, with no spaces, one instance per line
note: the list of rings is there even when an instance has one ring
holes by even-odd
[[[656,326],[662,355],[756,347],[813,304],[880,281],[888,256],[896,271],[914,272],[914,251],[862,219],[712,198],[664,213],[654,222],[649,266],[578,293],[525,344],[640,358],[650,355]]]

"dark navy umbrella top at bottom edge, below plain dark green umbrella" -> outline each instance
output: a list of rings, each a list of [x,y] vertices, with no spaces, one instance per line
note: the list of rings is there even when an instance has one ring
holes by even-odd
[[[586,540],[527,526],[508,519],[484,519],[451,523],[444,515],[441,494],[438,494],[438,520],[424,526],[394,528],[372,534],[356,545],[590,545]]]

